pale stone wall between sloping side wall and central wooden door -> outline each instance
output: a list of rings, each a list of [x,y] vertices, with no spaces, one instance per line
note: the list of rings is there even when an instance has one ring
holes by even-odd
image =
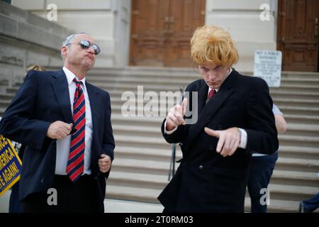
[[[130,0],[13,0],[12,4],[47,18],[50,5],[57,9],[55,23],[91,35],[101,48],[96,67],[128,65]]]

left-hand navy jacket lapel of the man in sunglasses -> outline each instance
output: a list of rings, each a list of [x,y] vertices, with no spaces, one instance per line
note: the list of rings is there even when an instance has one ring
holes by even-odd
[[[53,91],[55,92],[57,103],[60,106],[65,122],[73,123],[71,104],[69,102],[69,86],[65,72],[61,69],[52,75],[52,77],[54,78],[52,81]]]

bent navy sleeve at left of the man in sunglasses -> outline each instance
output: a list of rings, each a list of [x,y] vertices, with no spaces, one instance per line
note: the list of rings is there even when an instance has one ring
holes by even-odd
[[[45,142],[50,122],[33,119],[37,89],[37,74],[30,70],[4,112],[0,121],[0,133],[18,143],[40,149]]]

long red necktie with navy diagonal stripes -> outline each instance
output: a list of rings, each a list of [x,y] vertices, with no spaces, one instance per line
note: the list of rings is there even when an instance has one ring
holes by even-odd
[[[73,102],[73,121],[77,131],[71,136],[69,158],[67,159],[67,175],[72,182],[81,177],[84,172],[84,150],[85,150],[85,99],[80,81],[73,79],[75,89]]]

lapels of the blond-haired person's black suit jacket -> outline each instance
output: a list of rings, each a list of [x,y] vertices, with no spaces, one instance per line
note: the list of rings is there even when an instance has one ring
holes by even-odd
[[[228,78],[225,80],[225,82],[222,84],[218,92],[213,96],[213,99],[209,100],[208,103],[205,105],[207,92],[208,92],[208,86],[205,84],[204,86],[207,87],[207,89],[201,89],[206,90],[205,98],[203,99],[203,94],[198,94],[198,112],[200,113],[198,115],[198,121],[195,124],[192,124],[189,126],[189,138],[188,138],[188,144],[191,145],[193,140],[196,138],[198,133],[203,131],[203,128],[206,126],[206,124],[211,121],[211,118],[218,112],[218,109],[220,109],[220,106],[228,99],[228,97],[233,94],[233,82],[235,80],[235,77],[237,76],[237,72],[233,70],[233,72],[228,76]],[[200,93],[198,92],[198,93]],[[202,105],[201,102],[203,101],[203,109],[200,109],[200,106]]]

